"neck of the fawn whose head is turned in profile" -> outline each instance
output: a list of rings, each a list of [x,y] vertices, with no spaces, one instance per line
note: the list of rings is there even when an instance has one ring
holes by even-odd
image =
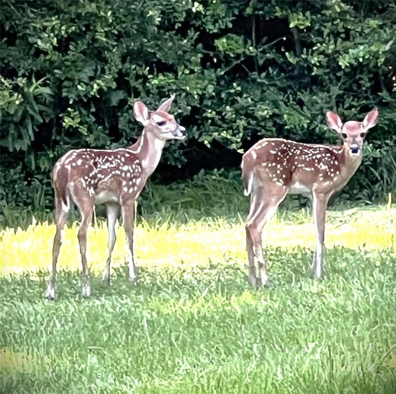
[[[128,149],[132,150],[137,159],[141,162],[143,172],[147,178],[150,176],[158,165],[162,150],[165,146],[165,140],[160,140],[146,128],[137,141]]]

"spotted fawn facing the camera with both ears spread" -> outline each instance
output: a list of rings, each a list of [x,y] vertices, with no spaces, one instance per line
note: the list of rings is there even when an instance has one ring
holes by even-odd
[[[254,258],[258,260],[261,285],[268,282],[262,232],[286,194],[301,193],[312,201],[316,250],[311,274],[316,278],[322,276],[327,202],[347,184],[362,162],[363,141],[367,131],[378,122],[378,110],[370,111],[363,122],[345,123],[336,113],[328,111],[326,121],[342,137],[342,146],[269,138],[259,141],[243,155],[242,179],[245,195],[250,194],[246,248],[250,282],[254,287],[257,282]]]

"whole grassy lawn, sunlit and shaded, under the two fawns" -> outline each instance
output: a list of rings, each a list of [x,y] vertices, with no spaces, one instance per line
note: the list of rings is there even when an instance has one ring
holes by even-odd
[[[90,229],[90,299],[75,224],[64,231],[55,302],[43,299],[54,226],[0,232],[1,392],[394,392],[394,209],[331,209],[321,282],[307,275],[309,211],[280,211],[264,236],[270,286],[253,290],[237,214],[246,201],[206,212],[170,200],[179,208],[138,221],[136,285],[121,227],[112,284],[101,283],[107,229]]]

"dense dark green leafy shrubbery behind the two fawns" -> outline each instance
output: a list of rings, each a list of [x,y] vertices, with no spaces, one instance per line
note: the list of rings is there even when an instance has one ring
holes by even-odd
[[[392,2],[3,1],[0,15],[3,208],[51,206],[57,157],[133,142],[131,102],[172,92],[189,140],[166,149],[164,181],[236,167],[261,136],[334,142],[326,109],[378,106],[344,193],[395,187]]]

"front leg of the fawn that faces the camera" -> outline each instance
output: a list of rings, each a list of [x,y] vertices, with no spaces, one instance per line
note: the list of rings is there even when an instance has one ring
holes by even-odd
[[[313,220],[316,227],[316,249],[311,265],[311,277],[321,278],[323,274],[323,243],[325,240],[326,208],[329,198],[327,195],[313,193]]]

